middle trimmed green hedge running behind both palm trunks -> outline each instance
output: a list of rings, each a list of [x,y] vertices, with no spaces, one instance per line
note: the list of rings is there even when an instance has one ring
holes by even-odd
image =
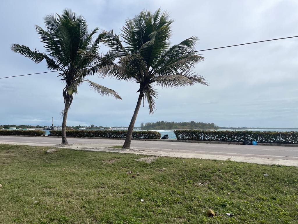
[[[66,130],[68,137],[92,137],[92,138],[125,138],[127,131],[76,131]],[[61,136],[62,131],[50,131],[48,136]],[[133,139],[160,139],[157,131],[133,131]]]

